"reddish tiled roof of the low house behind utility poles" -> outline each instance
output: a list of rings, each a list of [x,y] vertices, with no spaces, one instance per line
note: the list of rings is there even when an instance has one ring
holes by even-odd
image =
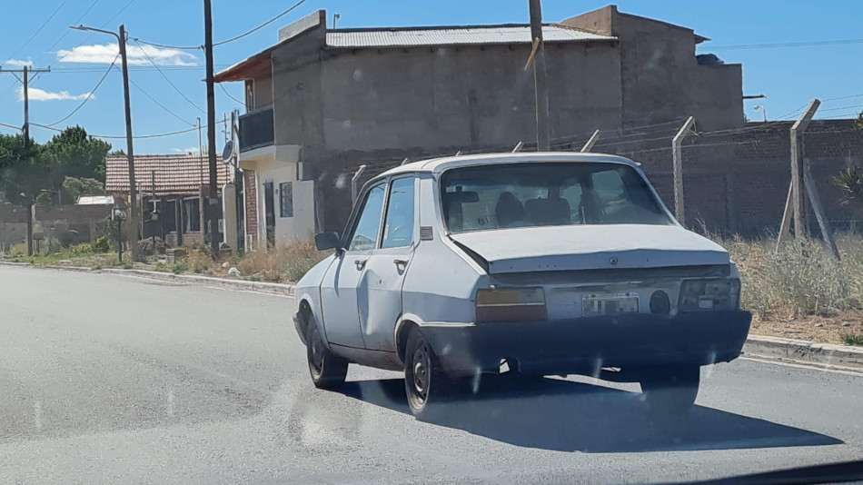
[[[219,188],[230,182],[231,166],[216,160]],[[139,192],[198,193],[202,184],[209,183],[210,171],[206,156],[198,155],[135,155],[135,183]],[[106,193],[129,191],[129,161],[127,157],[111,157],[105,161]]]

